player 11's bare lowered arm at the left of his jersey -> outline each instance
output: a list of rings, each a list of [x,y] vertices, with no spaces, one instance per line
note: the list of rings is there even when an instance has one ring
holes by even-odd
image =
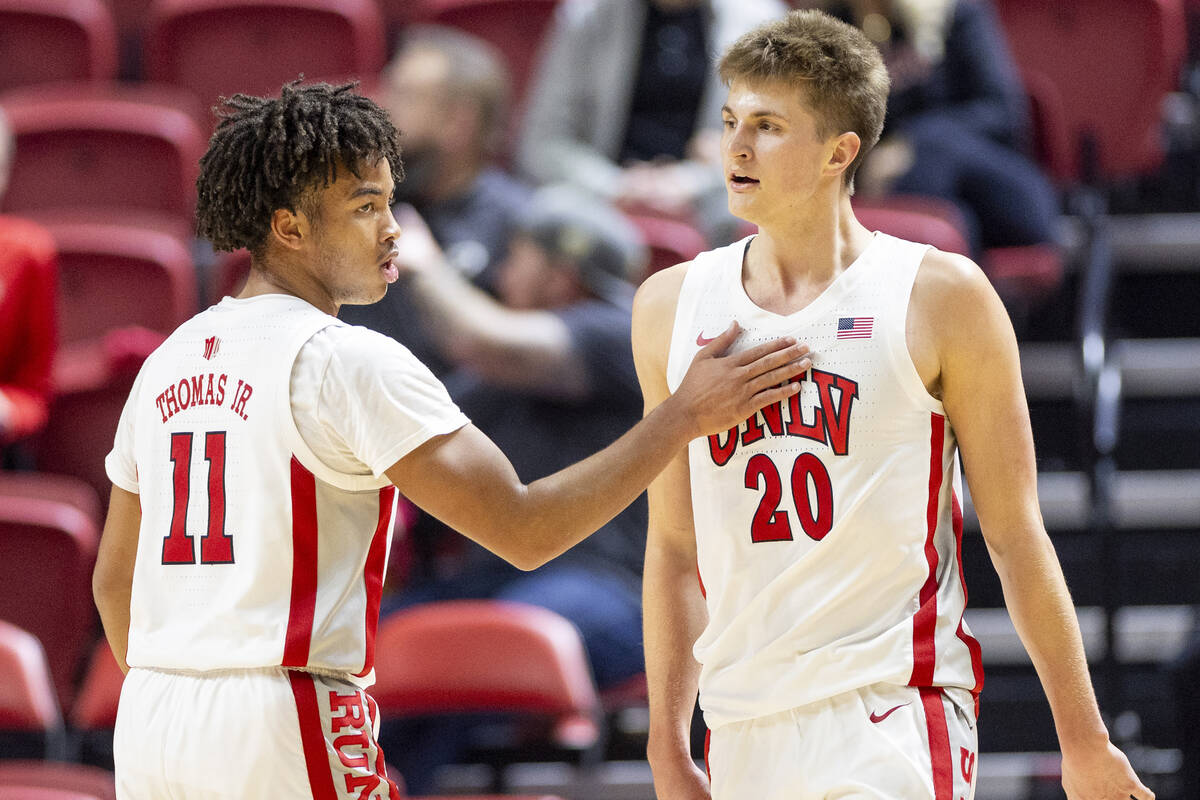
[[[108,500],[108,517],[96,553],[91,594],[100,610],[104,636],[121,672],[128,672],[125,655],[130,643],[130,595],[133,590],[133,563],[138,554],[142,504],[138,495],[114,486]]]

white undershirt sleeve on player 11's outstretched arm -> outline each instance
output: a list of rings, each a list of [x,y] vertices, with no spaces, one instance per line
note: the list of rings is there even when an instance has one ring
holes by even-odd
[[[328,467],[377,477],[433,437],[469,423],[404,345],[356,325],[326,327],[300,349],[292,413]]]

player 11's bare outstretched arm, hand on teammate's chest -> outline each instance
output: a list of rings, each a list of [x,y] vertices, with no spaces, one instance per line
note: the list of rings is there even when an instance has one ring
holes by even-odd
[[[776,339],[724,355],[731,326],[701,350],[668,402],[608,447],[528,486],[474,426],[437,437],[388,469],[418,506],[514,565],[532,570],[612,519],[691,439],[726,431],[798,391],[808,349]]]

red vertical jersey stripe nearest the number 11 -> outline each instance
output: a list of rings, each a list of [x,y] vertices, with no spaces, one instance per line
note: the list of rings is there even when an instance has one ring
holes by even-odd
[[[283,666],[308,663],[317,610],[317,479],[292,457],[292,602]]]

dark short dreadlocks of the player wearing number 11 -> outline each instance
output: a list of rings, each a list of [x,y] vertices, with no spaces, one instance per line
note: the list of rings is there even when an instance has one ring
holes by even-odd
[[[200,158],[196,180],[197,233],[218,251],[260,255],[271,213],[305,207],[310,192],[337,180],[337,166],[355,175],[386,158],[403,179],[396,128],[386,112],[358,95],[356,83],[283,86],[278,97],[234,95]]]

